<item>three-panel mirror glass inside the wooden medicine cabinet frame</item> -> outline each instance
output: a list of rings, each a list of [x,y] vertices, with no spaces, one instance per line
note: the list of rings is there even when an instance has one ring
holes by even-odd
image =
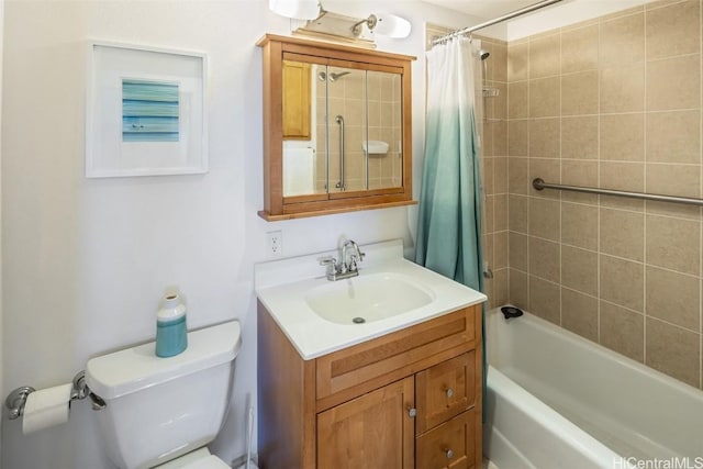
[[[402,185],[399,74],[283,60],[283,196]]]

